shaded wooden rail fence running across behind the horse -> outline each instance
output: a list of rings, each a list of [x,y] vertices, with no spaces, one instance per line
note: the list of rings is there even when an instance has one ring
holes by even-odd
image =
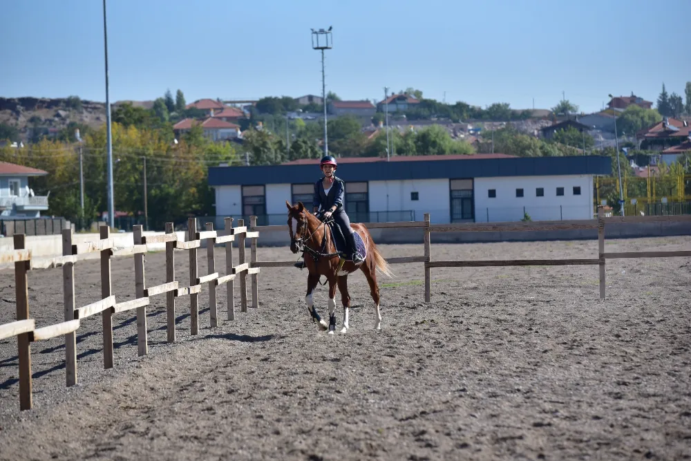
[[[529,266],[529,265],[598,265],[600,267],[600,299],[605,299],[605,264],[607,259],[616,258],[666,258],[672,256],[691,256],[691,251],[676,252],[625,252],[605,253],[605,224],[625,223],[656,223],[656,222],[688,222],[691,216],[612,216],[605,218],[604,209],[598,207],[598,219],[593,221],[540,221],[518,223],[451,223],[430,224],[430,215],[424,215],[424,221],[408,223],[367,223],[368,229],[391,227],[424,227],[424,254],[421,256],[403,256],[387,258],[390,264],[424,263],[425,301],[431,298],[431,269],[433,267],[501,267],[501,266]],[[256,232],[287,232],[287,225],[280,226],[252,226]],[[574,229],[598,230],[598,255],[593,258],[582,259],[512,259],[501,261],[433,261],[430,234],[432,232],[559,232]],[[256,261],[253,267],[284,267],[292,266],[295,261]]]

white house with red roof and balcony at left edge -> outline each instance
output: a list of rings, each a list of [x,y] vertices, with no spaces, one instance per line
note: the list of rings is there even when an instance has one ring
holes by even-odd
[[[47,171],[0,162],[0,216],[39,218],[48,209],[48,196],[37,196],[29,178],[46,176]]]

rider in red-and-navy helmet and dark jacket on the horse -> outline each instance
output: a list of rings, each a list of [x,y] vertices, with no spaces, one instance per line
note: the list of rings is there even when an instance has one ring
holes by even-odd
[[[314,198],[312,206],[314,214],[319,209],[323,210],[323,219],[334,217],[334,221],[341,227],[341,232],[345,236],[345,243],[348,245],[348,254],[352,254],[352,261],[355,264],[362,263],[363,258],[356,250],[354,229],[350,227],[350,219],[345,214],[343,200],[345,200],[345,182],[334,175],[338,165],[332,156],[324,156],[319,162],[324,177],[314,183]],[[295,266],[303,268],[303,262],[296,263]]]

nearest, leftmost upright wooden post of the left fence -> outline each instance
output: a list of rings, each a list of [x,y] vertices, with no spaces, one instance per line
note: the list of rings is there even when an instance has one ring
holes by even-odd
[[[24,250],[24,234],[15,234],[15,250]],[[17,320],[29,318],[29,292],[26,271],[30,261],[15,263],[15,290],[17,292]],[[17,352],[19,355],[19,408],[30,410],[31,399],[31,343],[29,333],[17,336]]]

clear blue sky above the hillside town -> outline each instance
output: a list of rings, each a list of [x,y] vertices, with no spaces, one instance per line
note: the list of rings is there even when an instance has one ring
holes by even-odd
[[[565,91],[655,101],[691,80],[691,0],[108,0],[111,102],[321,94],[310,28],[333,26],[327,91],[384,86],[515,109]],[[0,0],[0,96],[105,100],[102,1]]]

